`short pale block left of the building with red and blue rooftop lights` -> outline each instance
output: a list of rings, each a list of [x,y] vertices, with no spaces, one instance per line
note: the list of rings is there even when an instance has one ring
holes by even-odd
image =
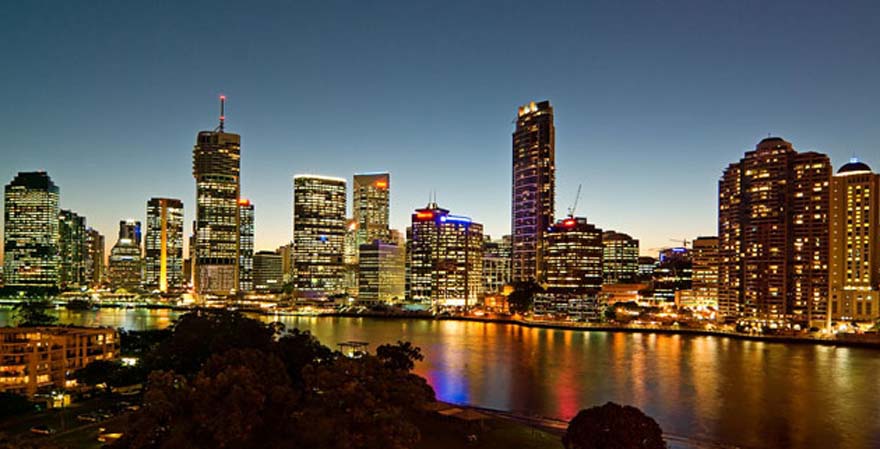
[[[361,245],[358,253],[358,302],[403,300],[405,248],[376,239]]]

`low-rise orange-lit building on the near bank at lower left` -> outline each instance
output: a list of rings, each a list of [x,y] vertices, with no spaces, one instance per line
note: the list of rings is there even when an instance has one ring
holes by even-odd
[[[64,389],[74,371],[118,357],[112,328],[0,327],[0,392],[33,396]]]

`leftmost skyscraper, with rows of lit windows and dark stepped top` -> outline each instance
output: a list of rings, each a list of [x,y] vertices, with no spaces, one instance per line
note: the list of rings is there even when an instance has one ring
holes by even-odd
[[[20,172],[5,190],[5,285],[58,286],[59,189],[46,172]]]

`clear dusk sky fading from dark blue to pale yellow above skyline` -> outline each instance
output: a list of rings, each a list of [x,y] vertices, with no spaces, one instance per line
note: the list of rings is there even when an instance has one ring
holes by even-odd
[[[295,173],[388,170],[394,227],[436,190],[509,232],[530,100],[556,110],[557,214],[582,183],[578,214],[643,253],[714,234],[722,169],[768,133],[880,168],[876,1],[248,3],[6,2],[0,179],[49,171],[108,244],[151,196],[190,218],[221,92],[258,249],[290,239]]]

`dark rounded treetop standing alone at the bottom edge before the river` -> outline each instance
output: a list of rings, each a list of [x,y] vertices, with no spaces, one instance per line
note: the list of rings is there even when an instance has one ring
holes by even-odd
[[[565,449],[666,449],[663,431],[636,407],[608,402],[581,410],[562,437]]]

